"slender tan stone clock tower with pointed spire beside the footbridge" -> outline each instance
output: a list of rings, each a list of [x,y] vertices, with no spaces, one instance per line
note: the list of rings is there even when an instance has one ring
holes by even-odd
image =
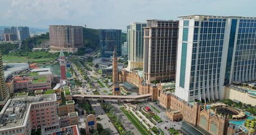
[[[118,57],[116,55],[116,46],[115,46],[115,50],[113,53],[113,58],[112,58],[112,73],[113,73],[113,95],[120,95],[121,91],[120,91],[120,86],[118,83]]]

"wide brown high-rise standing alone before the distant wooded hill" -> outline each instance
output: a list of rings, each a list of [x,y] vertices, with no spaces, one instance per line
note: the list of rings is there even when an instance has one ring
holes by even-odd
[[[51,25],[49,32],[51,51],[77,52],[84,47],[82,26]]]

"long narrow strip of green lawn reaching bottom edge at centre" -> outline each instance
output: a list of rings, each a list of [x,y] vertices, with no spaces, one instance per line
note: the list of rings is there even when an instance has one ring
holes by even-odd
[[[120,110],[124,113],[125,116],[131,121],[131,123],[138,129],[138,131],[141,134],[151,134],[149,131],[147,131],[146,127],[132,114],[129,113],[127,110],[124,109],[124,107],[121,107]]]

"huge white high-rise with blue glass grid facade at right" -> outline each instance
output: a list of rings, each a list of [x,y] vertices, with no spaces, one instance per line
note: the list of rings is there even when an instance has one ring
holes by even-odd
[[[215,100],[224,86],[256,79],[256,19],[181,16],[176,95],[185,101]]]

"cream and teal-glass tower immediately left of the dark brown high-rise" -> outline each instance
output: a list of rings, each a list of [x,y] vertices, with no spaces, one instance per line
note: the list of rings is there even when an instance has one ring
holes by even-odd
[[[128,68],[143,68],[143,35],[146,23],[133,22],[127,26]]]

